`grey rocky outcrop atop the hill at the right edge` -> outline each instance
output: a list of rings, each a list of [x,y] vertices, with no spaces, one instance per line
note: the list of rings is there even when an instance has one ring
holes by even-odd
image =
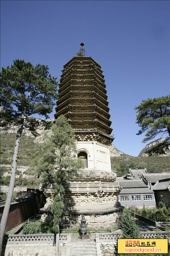
[[[154,140],[150,143],[148,143],[143,149],[142,151],[139,153],[138,157],[148,157],[151,154],[156,154],[159,155],[160,157],[167,157],[170,156],[170,145],[169,146],[165,146],[164,142],[166,141],[165,138],[160,138],[158,140]],[[155,153],[150,153],[147,152],[150,149],[155,148]]]

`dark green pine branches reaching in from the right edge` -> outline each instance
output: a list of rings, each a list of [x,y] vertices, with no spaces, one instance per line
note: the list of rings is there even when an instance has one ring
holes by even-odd
[[[137,135],[146,133],[142,142],[157,135],[170,138],[170,96],[143,100],[135,109],[136,123],[141,127]]]

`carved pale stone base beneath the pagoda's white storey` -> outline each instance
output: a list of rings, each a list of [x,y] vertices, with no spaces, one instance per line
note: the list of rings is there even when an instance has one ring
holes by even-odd
[[[116,174],[109,171],[83,170],[79,178],[71,180],[65,185],[65,209],[61,225],[63,227],[77,226],[82,215],[88,222],[88,227],[107,227],[119,221],[122,207],[118,201],[119,186],[114,184]],[[52,205],[51,185],[45,187],[47,202],[44,208],[42,221],[51,221]]]

